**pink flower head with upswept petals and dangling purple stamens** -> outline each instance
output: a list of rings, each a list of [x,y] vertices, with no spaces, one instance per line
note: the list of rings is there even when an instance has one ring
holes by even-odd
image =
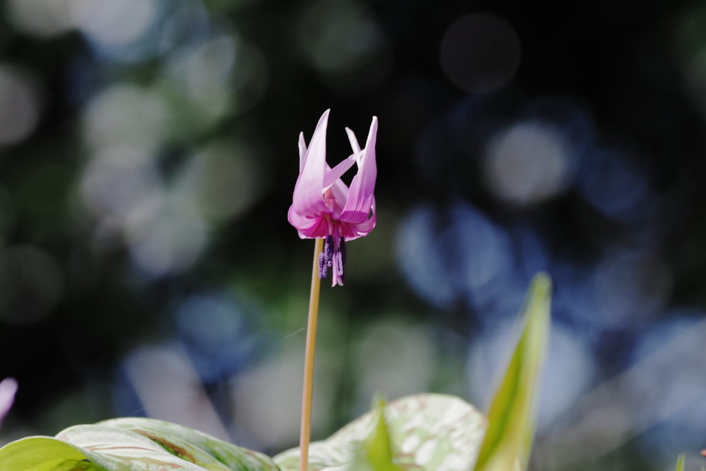
[[[318,120],[309,148],[304,133],[299,134],[299,178],[294,186],[289,223],[297,228],[302,239],[325,239],[319,256],[319,278],[325,278],[328,268],[333,270],[331,285],[343,285],[343,264],[346,260],[345,242],[369,234],[375,227],[375,139],[378,119],[373,117],[368,140],[361,150],[355,134],[346,128],[353,154],[340,164],[326,163],[327,109]],[[358,173],[348,188],[341,176],[353,164]]]

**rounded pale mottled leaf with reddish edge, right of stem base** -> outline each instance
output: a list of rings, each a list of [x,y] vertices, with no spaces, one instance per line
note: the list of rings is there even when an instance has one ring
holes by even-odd
[[[378,448],[385,446],[395,467],[467,471],[477,457],[486,425],[483,415],[459,398],[412,395],[393,401],[383,411],[368,412],[325,441],[311,443],[309,471],[350,464],[366,448],[369,460],[383,463],[384,451]],[[299,470],[299,448],[273,459],[282,471]]]

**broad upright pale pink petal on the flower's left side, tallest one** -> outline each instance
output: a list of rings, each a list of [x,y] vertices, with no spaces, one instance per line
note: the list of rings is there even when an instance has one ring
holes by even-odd
[[[326,126],[329,112],[327,109],[318,120],[309,148],[304,153],[297,184],[294,186],[292,207],[300,216],[317,217],[330,213],[321,195],[326,165]]]

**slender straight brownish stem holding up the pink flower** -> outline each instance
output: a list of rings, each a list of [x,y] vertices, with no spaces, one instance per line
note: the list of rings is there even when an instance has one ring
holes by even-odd
[[[318,321],[318,294],[321,279],[318,278],[318,256],[323,250],[323,239],[316,239],[313,249],[311,271],[311,295],[309,296],[309,323],[306,326],[306,352],[304,353],[304,392],[301,397],[301,430],[299,432],[299,471],[309,467],[309,439],[311,438],[311,396],[313,393],[313,354],[316,348],[316,322]]]

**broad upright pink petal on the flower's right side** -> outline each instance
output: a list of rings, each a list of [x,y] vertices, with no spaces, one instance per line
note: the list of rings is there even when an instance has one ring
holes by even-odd
[[[365,143],[363,155],[360,157],[358,173],[353,177],[348,190],[346,205],[338,220],[361,224],[366,222],[370,215],[373,204],[373,192],[375,191],[375,179],[378,169],[375,160],[375,143],[378,133],[378,118],[373,117],[368,133],[368,141]]]

